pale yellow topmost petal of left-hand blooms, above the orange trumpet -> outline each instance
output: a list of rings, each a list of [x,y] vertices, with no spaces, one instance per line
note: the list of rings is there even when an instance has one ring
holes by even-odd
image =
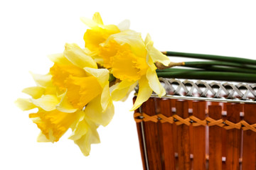
[[[92,57],[85,54],[85,51],[76,44],[66,43],[63,54],[70,62],[72,62],[77,67],[90,67],[97,69],[97,63],[92,59]]]

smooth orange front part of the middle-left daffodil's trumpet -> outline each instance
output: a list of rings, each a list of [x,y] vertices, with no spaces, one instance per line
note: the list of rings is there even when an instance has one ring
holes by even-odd
[[[98,96],[102,87],[95,77],[72,77],[66,81],[68,101],[74,108],[83,108]]]

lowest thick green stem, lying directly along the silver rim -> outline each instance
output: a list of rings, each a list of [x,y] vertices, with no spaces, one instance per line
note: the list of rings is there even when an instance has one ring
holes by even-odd
[[[158,77],[178,79],[206,79],[222,81],[256,82],[256,74],[234,72],[208,72],[188,69],[187,71],[156,72]]]

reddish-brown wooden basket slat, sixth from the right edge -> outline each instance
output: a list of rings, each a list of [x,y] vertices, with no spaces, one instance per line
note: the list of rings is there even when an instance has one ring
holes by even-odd
[[[166,117],[170,117],[171,112],[171,100],[157,98],[160,113]],[[175,157],[174,157],[174,135],[173,135],[173,124],[161,123],[159,125],[159,134],[161,142],[161,159],[162,169],[174,170],[175,169]]]

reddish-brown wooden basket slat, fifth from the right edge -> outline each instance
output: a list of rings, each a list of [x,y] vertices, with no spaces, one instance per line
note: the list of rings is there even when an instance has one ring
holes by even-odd
[[[181,118],[188,118],[188,102],[176,101],[176,114]],[[190,149],[189,149],[189,126],[177,126],[177,145],[178,145],[178,169],[190,169]]]

